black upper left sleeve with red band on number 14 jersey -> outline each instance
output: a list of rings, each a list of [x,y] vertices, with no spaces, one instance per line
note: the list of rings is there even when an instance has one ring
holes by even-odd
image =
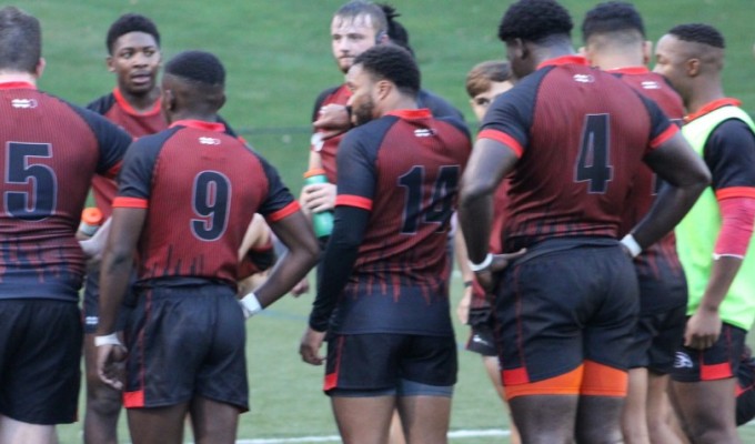
[[[363,128],[358,128],[350,131],[339,145],[335,205],[349,205],[370,211],[378,182],[375,168],[378,150],[370,150],[365,145],[365,142],[369,142],[365,138],[369,133],[362,130]]]

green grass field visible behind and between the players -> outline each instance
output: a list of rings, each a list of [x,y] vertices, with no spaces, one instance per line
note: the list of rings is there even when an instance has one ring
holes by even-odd
[[[48,68],[40,87],[77,103],[87,103],[113,87],[114,79],[104,69],[104,34],[121,13],[135,11],[154,19],[162,33],[165,60],[185,49],[217,53],[229,73],[223,115],[279,168],[292,190],[299,190],[306,165],[312,102],[323,88],[342,81],[329,43],[330,19],[342,1],[20,0],[16,4],[42,21]],[[392,3],[411,31],[423,85],[455,103],[471,122],[464,78],[479,61],[504,57],[495,34],[511,1]],[[745,109],[755,111],[755,89],[749,81],[755,71],[752,0],[634,3],[643,12],[648,38],[654,41],[682,22],[705,21],[722,29],[728,43],[726,91],[742,99]],[[568,0],[564,4],[578,27],[593,2]],[[580,33],[574,37],[578,46]],[[455,289],[454,299],[459,296],[459,282]],[[286,297],[249,323],[252,412],[242,416],[240,440],[335,434],[328,400],[320,391],[322,369],[301,363],[298,355],[310,303],[311,295]],[[463,342],[466,329],[460,326],[457,335]],[[460,365],[452,430],[506,428],[503,408],[479,356],[461,353]],[[80,442],[80,424],[61,426],[61,442]],[[742,435],[745,442],[755,442],[755,430],[745,427]],[[124,426],[121,440],[128,442]],[[453,440],[505,441],[500,436]]]

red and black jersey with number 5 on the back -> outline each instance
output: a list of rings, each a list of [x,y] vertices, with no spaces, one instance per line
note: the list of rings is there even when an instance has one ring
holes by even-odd
[[[94,173],[112,176],[131,138],[22,82],[0,83],[0,299],[78,301],[74,239]]]

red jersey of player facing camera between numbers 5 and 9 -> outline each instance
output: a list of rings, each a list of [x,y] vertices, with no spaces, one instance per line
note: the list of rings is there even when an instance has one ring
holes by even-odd
[[[154,102],[154,107],[150,111],[139,113],[123,98],[118,88],[89,103],[87,108],[120,125],[134,139],[154,134],[168,128],[168,122],[165,122],[160,109],[160,100]],[[92,180],[92,191],[94,192],[97,208],[102,211],[104,218],[110,218],[112,201],[118,192],[115,181],[95,175]]]

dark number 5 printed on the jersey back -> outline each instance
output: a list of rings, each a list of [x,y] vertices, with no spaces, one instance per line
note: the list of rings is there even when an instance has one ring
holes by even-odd
[[[52,168],[34,159],[52,159],[49,143],[9,142],[6,150],[3,193],[7,214],[24,221],[41,221],[56,211],[58,180]]]

